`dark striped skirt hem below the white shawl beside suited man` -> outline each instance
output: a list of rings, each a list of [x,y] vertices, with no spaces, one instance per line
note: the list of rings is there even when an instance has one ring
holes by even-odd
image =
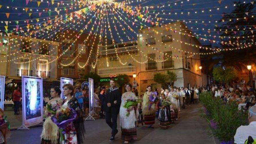
[[[135,128],[131,129],[121,129],[122,135],[121,138],[124,139],[125,141],[131,141],[131,140],[137,140],[137,130]]]

